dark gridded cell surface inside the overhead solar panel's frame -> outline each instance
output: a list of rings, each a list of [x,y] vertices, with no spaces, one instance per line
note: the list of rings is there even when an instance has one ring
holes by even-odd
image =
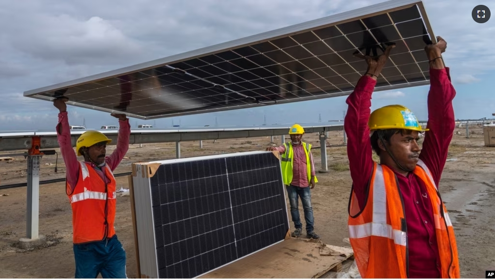
[[[69,87],[65,96],[71,101],[74,97],[78,104],[102,106],[101,102],[94,102],[93,99],[97,96],[107,98],[126,90],[130,95],[125,105],[115,98],[107,98],[105,107],[121,107],[120,110],[145,119],[256,106],[260,105],[259,102],[283,103],[294,99],[292,95],[288,98],[284,94],[284,88],[291,87],[287,86],[291,83],[299,88],[297,98],[300,100],[319,98],[321,95],[332,97],[350,92],[357,81],[356,75],[362,75],[366,70],[363,61],[353,56],[354,52],[380,55],[389,44],[396,44],[396,47],[386,67],[394,69],[381,75],[378,89],[391,85],[410,86],[409,83],[413,82],[410,80],[423,81],[421,84],[424,84],[429,79],[428,69],[418,63],[426,61],[423,49],[431,42],[432,32],[424,23],[426,14],[420,13],[421,7],[422,3],[417,2],[402,9],[374,13],[373,16],[363,16],[333,26],[313,27],[116,78],[78,84],[75,88]],[[277,79],[277,76],[282,79]],[[289,76],[296,79],[287,78]],[[336,79],[329,79],[336,76],[340,77],[338,83],[335,83]],[[130,84],[125,85],[126,82]],[[204,96],[194,91],[211,88],[215,84],[218,95],[237,94],[239,98],[234,98],[237,101],[207,98],[205,102],[202,99]],[[336,90],[327,90],[329,86]],[[165,92],[156,90],[160,88],[166,89]],[[149,98],[162,107],[149,106],[144,109],[140,102],[141,93],[151,89],[154,91],[150,91]],[[271,94],[262,93],[266,91]],[[85,97],[80,98],[75,93]],[[53,90],[38,94],[54,97]],[[181,101],[160,102],[153,98],[157,94],[174,94],[173,98]]]

